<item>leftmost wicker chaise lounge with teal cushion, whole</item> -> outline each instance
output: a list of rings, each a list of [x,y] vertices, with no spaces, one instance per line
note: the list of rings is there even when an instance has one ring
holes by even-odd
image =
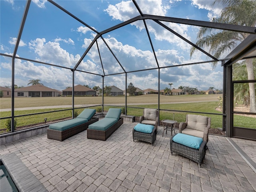
[[[47,129],[47,138],[63,141],[88,128],[99,118],[93,118],[95,109],[84,109],[76,118],[51,124]]]

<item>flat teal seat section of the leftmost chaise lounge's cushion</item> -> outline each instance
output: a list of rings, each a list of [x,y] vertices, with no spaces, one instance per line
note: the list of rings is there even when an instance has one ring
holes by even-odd
[[[72,128],[74,126],[78,126],[80,124],[88,122],[88,119],[83,119],[83,118],[74,118],[58,123],[51,124],[49,126],[49,129],[54,129],[54,130],[59,130],[59,131],[64,131],[69,128]]]

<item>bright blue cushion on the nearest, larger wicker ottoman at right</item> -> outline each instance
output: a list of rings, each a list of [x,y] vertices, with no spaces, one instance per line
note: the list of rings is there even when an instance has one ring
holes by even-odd
[[[191,147],[194,149],[199,149],[203,139],[200,137],[195,137],[187,134],[178,133],[176,134],[172,140],[176,143],[185,145],[187,147]]]

